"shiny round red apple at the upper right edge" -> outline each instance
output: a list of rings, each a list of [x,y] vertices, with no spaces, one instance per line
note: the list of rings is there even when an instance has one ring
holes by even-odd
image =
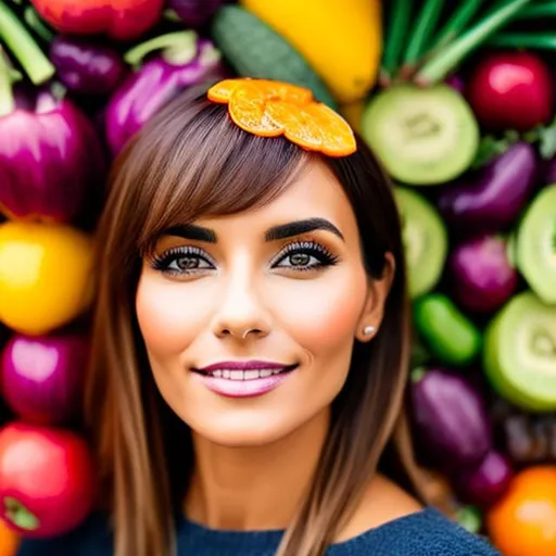
[[[554,83],[547,65],[530,52],[495,53],[479,62],[467,98],[483,127],[527,131],[553,117]]]

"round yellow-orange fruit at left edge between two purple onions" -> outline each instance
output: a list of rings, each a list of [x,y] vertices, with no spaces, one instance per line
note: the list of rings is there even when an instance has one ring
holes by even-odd
[[[92,301],[92,239],[66,225],[0,225],[0,323],[43,334],[67,325]]]

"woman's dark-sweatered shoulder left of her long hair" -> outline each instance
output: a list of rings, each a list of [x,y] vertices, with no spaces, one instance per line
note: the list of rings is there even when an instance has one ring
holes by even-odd
[[[49,539],[24,539],[16,556],[112,556],[112,534],[108,516],[91,515],[73,531]]]

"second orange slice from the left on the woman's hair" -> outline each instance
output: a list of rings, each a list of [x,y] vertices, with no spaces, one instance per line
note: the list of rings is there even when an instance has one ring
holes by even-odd
[[[232,91],[228,111],[233,123],[244,131],[261,137],[278,137],[285,127],[281,122],[269,116],[266,108],[265,92],[245,83]]]

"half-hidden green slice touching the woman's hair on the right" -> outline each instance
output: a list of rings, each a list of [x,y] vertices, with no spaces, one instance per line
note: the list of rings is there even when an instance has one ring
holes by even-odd
[[[437,286],[447,255],[447,232],[434,206],[421,194],[395,187],[412,299]]]

